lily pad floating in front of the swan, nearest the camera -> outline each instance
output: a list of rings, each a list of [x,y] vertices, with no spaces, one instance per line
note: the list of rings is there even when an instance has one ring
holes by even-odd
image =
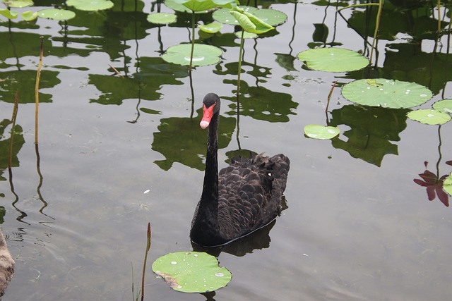
[[[225,287],[232,275],[218,260],[204,252],[176,252],[157,258],[153,272],[184,293],[206,293]]]

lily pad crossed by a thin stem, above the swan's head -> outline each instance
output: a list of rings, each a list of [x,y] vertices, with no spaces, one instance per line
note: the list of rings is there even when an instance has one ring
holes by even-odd
[[[195,44],[193,52],[193,66],[213,65],[220,61],[223,51],[215,46]],[[169,47],[162,59],[168,63],[182,66],[190,65],[191,44],[179,44]]]

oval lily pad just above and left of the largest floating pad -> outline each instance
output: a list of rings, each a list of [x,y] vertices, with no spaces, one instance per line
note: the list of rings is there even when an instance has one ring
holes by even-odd
[[[343,48],[316,48],[298,54],[300,61],[314,70],[346,72],[359,70],[369,65],[369,60],[356,51]]]

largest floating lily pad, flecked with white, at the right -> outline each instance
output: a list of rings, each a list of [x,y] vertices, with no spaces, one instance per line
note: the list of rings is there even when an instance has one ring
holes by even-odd
[[[342,94],[350,102],[393,109],[412,108],[432,98],[432,92],[427,87],[385,78],[355,80],[343,87]]]

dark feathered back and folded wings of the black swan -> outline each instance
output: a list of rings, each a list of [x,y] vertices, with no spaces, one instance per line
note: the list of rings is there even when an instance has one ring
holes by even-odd
[[[283,154],[259,154],[234,158],[220,170],[218,226],[223,238],[232,240],[256,231],[281,213],[289,164]]]

